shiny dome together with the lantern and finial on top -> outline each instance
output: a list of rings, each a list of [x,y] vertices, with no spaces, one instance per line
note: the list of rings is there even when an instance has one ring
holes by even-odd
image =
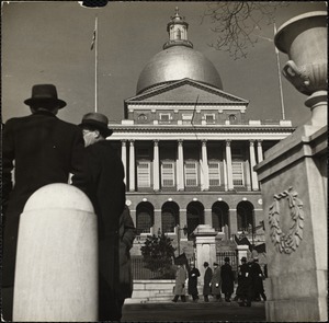
[[[185,78],[223,90],[215,66],[193,49],[193,44],[188,39],[188,27],[189,24],[175,8],[175,15],[167,25],[169,41],[163,45],[163,50],[155,55],[143,69],[137,82],[137,94]]]

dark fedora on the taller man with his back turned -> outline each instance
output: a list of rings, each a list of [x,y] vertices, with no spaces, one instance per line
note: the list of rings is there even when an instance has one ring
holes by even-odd
[[[26,105],[53,108],[63,108],[66,102],[57,96],[56,86],[53,84],[36,84],[32,86],[32,96],[24,101]]]

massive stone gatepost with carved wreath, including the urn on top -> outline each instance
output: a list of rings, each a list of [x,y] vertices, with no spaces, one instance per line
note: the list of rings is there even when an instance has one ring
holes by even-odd
[[[286,22],[275,35],[285,77],[309,95],[311,118],[265,152],[262,187],[268,252],[268,322],[328,321],[327,12]]]

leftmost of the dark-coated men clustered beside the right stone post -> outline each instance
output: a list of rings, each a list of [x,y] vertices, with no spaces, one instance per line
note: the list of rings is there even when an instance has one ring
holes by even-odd
[[[238,287],[236,290],[235,300],[240,300],[241,307],[250,307],[251,305],[251,280],[249,266],[247,264],[247,257],[242,257],[241,265],[238,267]]]

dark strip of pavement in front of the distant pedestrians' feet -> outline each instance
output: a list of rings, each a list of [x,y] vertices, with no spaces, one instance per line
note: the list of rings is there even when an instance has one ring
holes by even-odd
[[[232,302],[124,304],[122,322],[266,322],[264,302],[250,308]]]

